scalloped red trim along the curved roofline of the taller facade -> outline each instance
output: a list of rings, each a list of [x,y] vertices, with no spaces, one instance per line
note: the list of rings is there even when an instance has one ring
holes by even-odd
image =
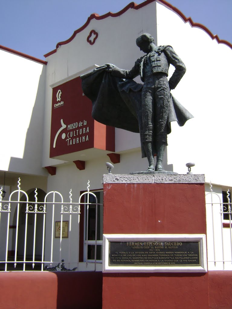
[[[140,4],[136,4],[135,2],[131,2],[127,6],[125,6],[124,9],[122,9],[121,11],[119,11],[117,13],[108,12],[108,13],[106,13],[104,15],[101,15],[101,16],[96,14],[96,13],[91,14],[88,17],[86,23],[82,27],[80,27],[79,29],[75,30],[73,32],[73,35],[68,40],[57,43],[56,44],[56,49],[54,49],[51,52],[45,54],[44,57],[48,57],[48,56],[56,53],[56,51],[57,51],[59,46],[65,45],[65,44],[71,42],[75,38],[77,33],[81,32],[82,30],[84,30],[88,26],[88,24],[90,23],[90,21],[92,19],[101,20],[101,19],[105,19],[105,18],[107,18],[109,16],[111,16],[111,17],[118,17],[118,16],[122,15],[123,13],[125,13],[129,9],[139,10],[141,7],[144,7],[144,6],[148,5],[149,3],[155,2],[155,1],[160,2],[160,3],[164,4],[165,6],[169,7],[172,11],[177,13],[183,19],[183,21],[185,23],[189,22],[192,27],[197,27],[197,28],[200,28],[200,29],[204,30],[206,33],[208,33],[208,35],[211,37],[212,40],[216,40],[217,43],[226,44],[227,46],[229,46],[232,49],[232,44],[230,42],[228,42],[226,40],[220,40],[217,34],[213,35],[213,33],[207,27],[202,25],[201,23],[194,23],[192,21],[191,17],[187,18],[180,10],[178,10],[175,6],[172,6],[170,3],[166,2],[165,0],[147,0],[147,1],[142,2]]]

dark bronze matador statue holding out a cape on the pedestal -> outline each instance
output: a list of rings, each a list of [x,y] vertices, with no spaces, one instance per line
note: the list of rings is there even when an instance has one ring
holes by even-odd
[[[92,100],[93,118],[106,125],[139,132],[142,157],[148,159],[147,171],[161,172],[170,122],[178,121],[183,126],[193,117],[170,94],[186,67],[170,45],[156,46],[148,33],[140,35],[136,45],[145,55],[135,61],[131,70],[105,64],[81,76],[82,88]],[[175,71],[168,80],[170,64]],[[133,80],[138,75],[143,85]],[[156,164],[154,155],[157,155]]]

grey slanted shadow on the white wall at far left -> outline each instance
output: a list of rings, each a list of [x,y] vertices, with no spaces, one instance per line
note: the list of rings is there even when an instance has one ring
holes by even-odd
[[[35,103],[32,109],[30,124],[27,130],[23,158],[11,157],[8,170],[20,173],[48,176],[41,168],[43,149],[43,124],[45,104],[45,73],[46,66],[42,68]],[[23,121],[23,115],[19,115]]]

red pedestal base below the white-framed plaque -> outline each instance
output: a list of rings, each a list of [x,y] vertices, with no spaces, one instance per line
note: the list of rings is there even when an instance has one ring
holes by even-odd
[[[102,308],[208,309],[207,286],[202,274],[107,273]]]

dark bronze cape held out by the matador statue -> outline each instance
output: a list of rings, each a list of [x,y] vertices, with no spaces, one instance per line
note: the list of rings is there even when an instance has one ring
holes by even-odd
[[[115,77],[105,68],[106,66],[101,66],[80,76],[82,90],[92,101],[92,117],[104,125],[139,133],[142,128],[143,85],[132,79]],[[183,126],[190,118],[193,118],[191,113],[171,94],[167,119],[168,134],[171,133],[172,121]],[[142,142],[141,150],[142,157],[146,157]]]

